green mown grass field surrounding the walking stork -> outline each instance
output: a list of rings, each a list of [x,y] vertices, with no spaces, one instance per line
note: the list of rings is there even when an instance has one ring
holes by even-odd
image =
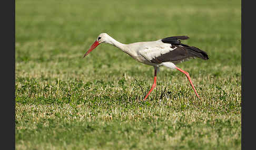
[[[16,149],[241,149],[241,1],[15,1]],[[107,44],[187,35],[154,69]],[[141,86],[141,88],[140,88]]]

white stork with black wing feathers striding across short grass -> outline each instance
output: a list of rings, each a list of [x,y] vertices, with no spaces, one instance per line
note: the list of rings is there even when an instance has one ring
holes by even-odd
[[[143,99],[144,101],[147,99],[147,97],[149,97],[152,90],[156,87],[156,76],[161,66],[170,68],[171,70],[179,70],[184,73],[186,78],[188,78],[196,97],[201,100],[198,92],[196,92],[194,88],[189,72],[176,67],[176,64],[192,58],[208,60],[209,57],[205,51],[197,47],[182,44],[181,40],[186,39],[189,39],[189,37],[172,36],[155,41],[142,41],[133,42],[131,44],[122,44],[121,42],[112,38],[110,35],[101,33],[94,41],[90,49],[86,51],[84,57],[102,43],[113,45],[135,60],[154,67],[153,84],[150,91],[145,95]]]

